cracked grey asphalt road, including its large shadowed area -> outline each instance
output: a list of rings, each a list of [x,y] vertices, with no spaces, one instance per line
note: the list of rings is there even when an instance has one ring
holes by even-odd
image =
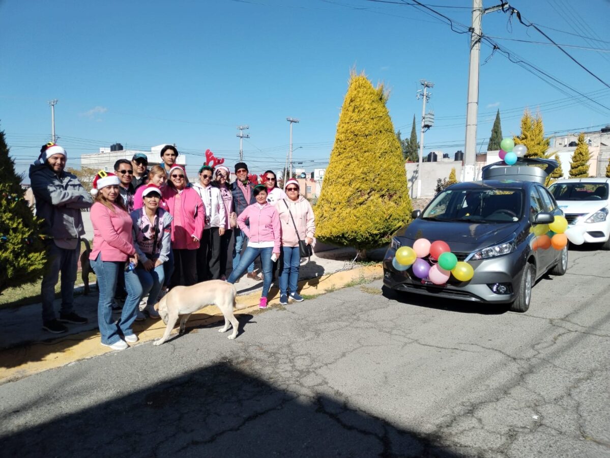
[[[0,456],[608,457],[609,267],[570,250],[523,314],[375,281],[26,377]]]

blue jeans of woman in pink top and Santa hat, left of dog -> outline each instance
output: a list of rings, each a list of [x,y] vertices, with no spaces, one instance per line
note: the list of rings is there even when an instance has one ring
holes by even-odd
[[[95,261],[91,261],[91,267],[98,279],[98,326],[102,335],[102,343],[112,345],[121,340],[119,331],[127,336],[134,334],[131,325],[134,324],[137,315],[138,303],[142,297],[142,285],[135,272],[124,271],[124,262],[102,261],[102,255],[98,254]],[[112,298],[119,274],[124,275],[127,299],[123,306],[121,318],[117,323],[112,319]]]

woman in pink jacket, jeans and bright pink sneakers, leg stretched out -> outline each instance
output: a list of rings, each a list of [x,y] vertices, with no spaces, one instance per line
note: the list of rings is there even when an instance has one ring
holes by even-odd
[[[229,275],[227,281],[235,283],[244,273],[250,263],[260,256],[263,268],[263,292],[259,301],[259,308],[267,308],[267,295],[271,286],[271,268],[273,261],[279,258],[279,244],[281,240],[278,210],[267,202],[267,188],[265,185],[254,187],[256,203],[249,205],[237,216],[237,224],[248,237],[248,248],[243,252],[239,264]],[[246,220],[249,219],[249,227]]]

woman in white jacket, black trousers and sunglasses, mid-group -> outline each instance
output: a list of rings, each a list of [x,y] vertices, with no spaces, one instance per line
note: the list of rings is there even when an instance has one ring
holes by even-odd
[[[201,246],[197,252],[198,281],[220,279],[220,237],[224,234],[226,214],[220,190],[212,185],[214,170],[209,165],[199,168],[199,182],[193,189],[206,209]]]

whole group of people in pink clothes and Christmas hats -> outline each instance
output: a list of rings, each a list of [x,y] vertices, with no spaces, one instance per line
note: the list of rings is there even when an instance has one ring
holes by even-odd
[[[37,215],[49,236],[49,267],[41,284],[47,331],[59,334],[67,331],[63,323],[87,323],[73,310],[73,288],[85,235],[81,210],[88,208],[93,224],[89,260],[98,281],[102,345],[124,349],[137,342],[132,324],[146,315],[159,318],[154,304],[171,287],[209,279],[235,283],[246,270],[249,278],[263,282],[261,309],[267,307],[278,267],[280,303],[303,301],[297,292],[300,241],[314,242],[315,218],[298,181],[287,180],[282,190],[268,170],[264,184],[254,185],[246,163],[238,162],[233,183],[226,166],[203,165],[199,182],[191,184],[184,167],[176,163],[175,146],[165,146],[160,155],[160,165],[150,169],[142,153],[131,161],[118,160],[115,173],[100,171],[87,193],[77,177],[64,170],[65,149],[54,143],[41,148],[29,176]],[[227,277],[231,240],[232,271]],[[254,270],[257,257],[262,277]],[[53,300],[59,273],[58,319]],[[122,310],[116,297],[124,298]],[[113,309],[120,310],[118,320]]]

